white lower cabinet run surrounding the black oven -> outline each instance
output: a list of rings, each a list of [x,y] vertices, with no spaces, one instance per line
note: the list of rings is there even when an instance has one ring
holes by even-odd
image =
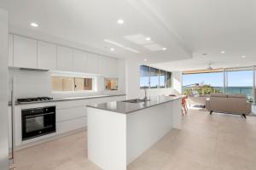
[[[99,103],[105,103],[108,101],[124,100],[124,96],[113,96],[106,98],[96,99],[74,99],[68,101],[60,101],[55,103],[49,103],[49,105],[56,106],[56,134],[69,133],[79,128],[87,127],[87,107],[86,105],[93,105]],[[46,104],[32,104],[32,105],[17,105],[15,107],[15,146],[20,146],[28,143],[32,143],[36,140],[22,142],[21,131],[21,110],[26,108],[38,108],[46,106]],[[11,138],[11,107],[9,106],[9,145],[12,144]],[[40,138],[40,137],[39,137]],[[41,140],[41,139],[37,140]],[[48,137],[47,137],[48,138]],[[47,139],[45,138],[45,139]],[[10,149],[10,148],[9,148]]]

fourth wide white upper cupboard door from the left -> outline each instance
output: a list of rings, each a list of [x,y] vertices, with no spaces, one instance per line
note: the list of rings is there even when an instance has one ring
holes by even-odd
[[[75,49],[73,51],[73,70],[77,72],[86,72],[86,53]]]

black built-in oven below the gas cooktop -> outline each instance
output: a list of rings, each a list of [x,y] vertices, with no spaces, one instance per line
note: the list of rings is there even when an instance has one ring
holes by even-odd
[[[21,110],[22,140],[55,133],[55,106]]]

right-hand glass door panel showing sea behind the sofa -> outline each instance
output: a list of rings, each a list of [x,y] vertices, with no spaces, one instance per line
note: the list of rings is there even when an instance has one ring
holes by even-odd
[[[253,67],[226,69],[225,93],[246,94],[247,100],[253,102]]]

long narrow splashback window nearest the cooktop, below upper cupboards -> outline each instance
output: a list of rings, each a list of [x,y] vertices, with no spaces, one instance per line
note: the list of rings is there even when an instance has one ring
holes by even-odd
[[[92,90],[92,78],[51,77],[52,91],[73,92]]]

